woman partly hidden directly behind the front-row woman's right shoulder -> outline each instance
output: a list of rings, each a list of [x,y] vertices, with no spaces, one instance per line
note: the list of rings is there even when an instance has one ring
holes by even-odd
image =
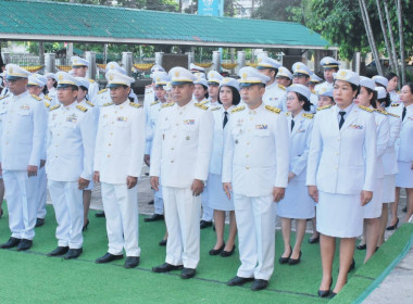
[[[385,177],[383,168],[383,155],[386,152],[389,141],[390,127],[387,119],[387,113],[376,111],[377,107],[377,91],[375,83],[367,77],[360,77],[360,92],[354,100],[359,106],[370,107],[374,111],[377,132],[377,149],[376,149],[376,165],[375,165],[375,183],[374,197],[372,201],[364,206],[364,235],[363,240],[358,245],[358,249],[367,249],[364,263],[368,261],[376,252],[377,241],[379,236],[380,216],[383,208],[383,179]]]

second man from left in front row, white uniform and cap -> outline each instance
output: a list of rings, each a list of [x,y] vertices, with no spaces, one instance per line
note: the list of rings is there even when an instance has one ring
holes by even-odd
[[[76,258],[83,253],[83,191],[93,175],[97,125],[87,107],[77,104],[76,78],[57,73],[59,104],[49,113],[46,172],[58,221],[58,248],[48,256]]]

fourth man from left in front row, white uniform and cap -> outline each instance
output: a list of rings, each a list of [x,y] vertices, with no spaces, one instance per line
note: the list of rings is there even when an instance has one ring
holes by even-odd
[[[151,186],[162,191],[170,233],[164,264],[154,273],[183,269],[182,278],[196,275],[200,257],[201,197],[208,178],[214,121],[208,106],[192,99],[196,77],[183,67],[170,71],[175,103],[166,103],[158,118],[151,154]]]

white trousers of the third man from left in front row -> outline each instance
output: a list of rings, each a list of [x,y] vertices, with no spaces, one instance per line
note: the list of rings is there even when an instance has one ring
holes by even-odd
[[[110,254],[140,256],[138,186],[127,189],[126,183],[102,182],[103,208]]]

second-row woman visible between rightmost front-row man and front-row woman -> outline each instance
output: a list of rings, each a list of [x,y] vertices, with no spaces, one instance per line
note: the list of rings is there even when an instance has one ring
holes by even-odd
[[[310,111],[311,91],[303,85],[287,88],[287,119],[290,130],[290,165],[286,194],[277,204],[281,218],[284,253],[279,264],[296,265],[301,259],[301,244],[305,235],[306,219],[315,215],[314,203],[305,187],[306,161],[309,156],[314,114]],[[296,243],[290,244],[291,220],[296,219]]]

